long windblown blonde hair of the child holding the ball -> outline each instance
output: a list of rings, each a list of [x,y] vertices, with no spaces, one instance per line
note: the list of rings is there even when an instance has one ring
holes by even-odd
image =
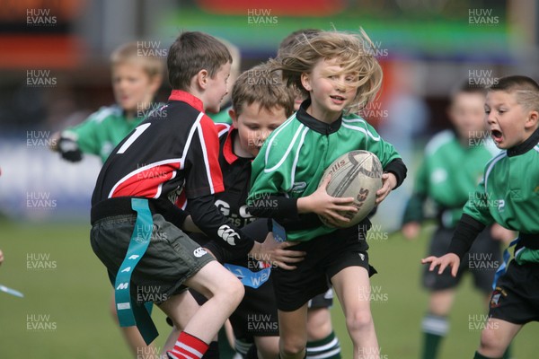
[[[357,92],[346,111],[362,109],[376,98],[382,85],[382,67],[372,53],[375,46],[365,31],[361,29],[358,34],[320,31],[313,36],[300,35],[296,40],[281,57],[271,60],[273,68],[282,71],[287,85],[295,86],[308,97],[301,75],[311,73],[320,60],[337,59],[342,67],[337,74],[357,74],[355,82],[347,83],[356,87]]]

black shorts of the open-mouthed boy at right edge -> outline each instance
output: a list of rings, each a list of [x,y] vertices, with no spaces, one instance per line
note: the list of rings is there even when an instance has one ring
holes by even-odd
[[[509,262],[490,297],[489,316],[519,325],[539,321],[539,263]]]

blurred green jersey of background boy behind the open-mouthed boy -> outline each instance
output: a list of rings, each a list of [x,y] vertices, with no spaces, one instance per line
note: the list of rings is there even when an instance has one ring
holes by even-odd
[[[455,227],[464,204],[482,180],[485,163],[496,153],[499,150],[490,139],[462,144],[452,130],[434,136],[425,147],[402,222],[421,222],[423,205],[429,198],[436,206],[441,223],[447,228]]]

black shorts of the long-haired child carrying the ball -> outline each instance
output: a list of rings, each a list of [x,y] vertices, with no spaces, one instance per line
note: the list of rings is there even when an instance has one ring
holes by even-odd
[[[318,294],[330,288],[330,279],[346,267],[364,267],[369,276],[376,270],[368,264],[367,243],[341,237],[339,232],[299,242],[290,250],[304,250],[305,259],[296,269],[274,268],[271,273],[277,307],[280,311],[296,311]]]

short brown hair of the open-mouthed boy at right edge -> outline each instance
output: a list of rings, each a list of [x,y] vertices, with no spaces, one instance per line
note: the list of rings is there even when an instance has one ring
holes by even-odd
[[[525,109],[539,111],[539,84],[527,76],[501,77],[487,90],[515,93],[519,105]]]

